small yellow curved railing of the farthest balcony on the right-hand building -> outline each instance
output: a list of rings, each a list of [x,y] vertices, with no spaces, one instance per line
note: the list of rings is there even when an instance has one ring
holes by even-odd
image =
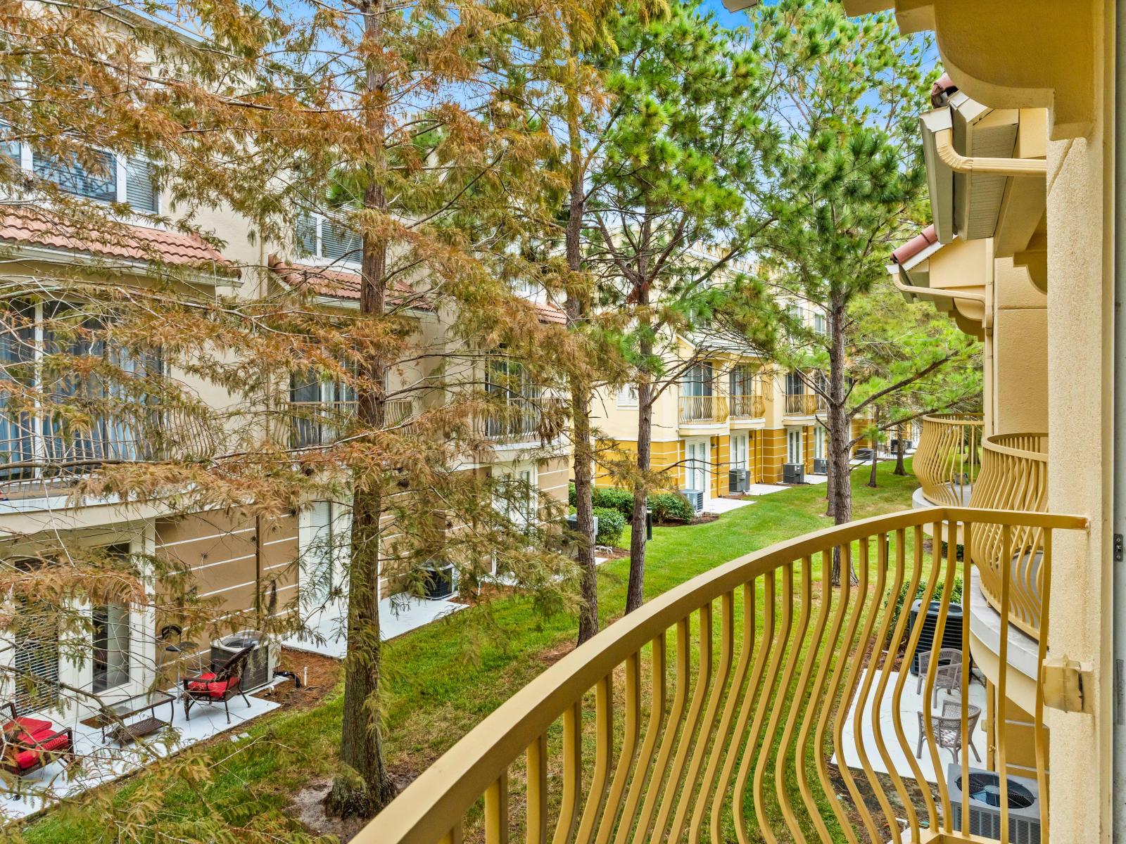
[[[922,494],[937,506],[962,506],[981,470],[984,422],[980,413],[936,413],[922,417],[912,466]]]

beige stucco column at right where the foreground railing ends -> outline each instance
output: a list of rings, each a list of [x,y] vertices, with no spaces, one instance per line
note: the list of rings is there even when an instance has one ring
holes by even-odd
[[[1091,520],[1087,535],[1054,537],[1048,644],[1096,670],[1093,715],[1047,711],[1060,844],[1110,837],[1114,152],[1103,45],[1114,43],[1112,23],[1103,20],[1096,47],[1093,128],[1048,146],[1048,509]]]

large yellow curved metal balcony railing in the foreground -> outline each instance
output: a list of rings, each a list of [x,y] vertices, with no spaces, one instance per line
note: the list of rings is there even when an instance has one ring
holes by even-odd
[[[354,841],[982,841],[955,829],[951,805],[968,817],[968,796],[955,798],[947,778],[965,781],[971,767],[991,762],[1006,771],[1010,746],[1028,738],[1010,737],[999,719],[991,762],[981,731],[983,761],[972,762],[967,682],[942,692],[967,713],[955,719],[957,761],[938,744],[950,740],[950,725],[941,731],[935,717],[919,719],[926,747],[917,756],[915,717],[905,709],[911,695],[929,702],[935,691],[937,659],[919,691],[917,677],[901,670],[922,647],[931,619],[935,639],[947,645],[947,620],[958,619],[951,629],[962,644],[962,675],[969,676],[969,613],[949,614],[965,564],[954,545],[924,547],[924,524],[937,529],[941,521],[971,533],[998,526],[1007,538],[1021,528],[1051,536],[1087,524],[1080,517],[920,509],[808,533],[713,568],[548,667]],[[855,564],[857,585],[848,577],[830,585],[834,553]],[[933,611],[912,623],[906,608],[917,593]],[[901,595],[909,599],[902,610]],[[1042,601],[1048,598],[1045,590]],[[1007,673],[998,677],[1001,699]],[[1039,781],[1046,841],[1042,698],[1035,709],[1042,767],[1029,775]],[[937,781],[928,771],[939,772]],[[1001,841],[1009,841],[1008,781],[1001,782]]]

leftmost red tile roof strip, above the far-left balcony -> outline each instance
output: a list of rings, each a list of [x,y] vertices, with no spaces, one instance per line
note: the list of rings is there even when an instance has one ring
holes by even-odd
[[[239,270],[218,250],[194,234],[166,232],[146,226],[114,226],[97,231],[92,225],[69,223],[30,208],[0,209],[0,240],[48,249],[87,252],[131,261],[163,261],[177,267],[197,267],[224,276]]]

